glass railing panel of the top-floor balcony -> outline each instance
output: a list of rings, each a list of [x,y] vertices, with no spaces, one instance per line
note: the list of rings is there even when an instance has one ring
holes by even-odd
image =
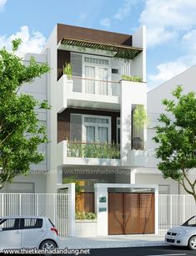
[[[110,95],[119,96],[120,86],[117,81],[108,81],[101,79],[83,78],[73,76],[68,86],[69,91],[92,95]],[[71,83],[71,81],[73,81]]]

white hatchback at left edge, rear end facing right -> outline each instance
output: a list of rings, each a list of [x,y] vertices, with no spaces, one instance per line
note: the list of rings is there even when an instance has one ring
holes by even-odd
[[[12,216],[0,218],[0,251],[4,249],[58,248],[58,230],[49,218]]]

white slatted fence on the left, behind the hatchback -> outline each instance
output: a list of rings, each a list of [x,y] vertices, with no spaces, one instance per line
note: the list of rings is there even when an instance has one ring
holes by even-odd
[[[69,236],[70,195],[68,194],[10,194],[0,193],[0,216],[46,216],[55,223],[59,235]]]

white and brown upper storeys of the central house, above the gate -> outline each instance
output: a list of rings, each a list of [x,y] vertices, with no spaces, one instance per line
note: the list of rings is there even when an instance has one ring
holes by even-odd
[[[132,118],[137,105],[146,109],[147,103],[144,28],[130,36],[58,24],[46,49],[53,106],[47,191],[57,192],[70,175],[86,181],[88,189],[96,182],[134,182],[145,148],[134,150],[133,139],[147,140],[146,128],[133,129]],[[66,63],[72,66],[70,79],[63,74]],[[125,81],[123,74],[142,82]]]

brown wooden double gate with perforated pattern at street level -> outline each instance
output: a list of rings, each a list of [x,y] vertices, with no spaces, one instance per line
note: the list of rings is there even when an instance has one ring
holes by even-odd
[[[108,234],[154,233],[153,193],[108,193]]]

